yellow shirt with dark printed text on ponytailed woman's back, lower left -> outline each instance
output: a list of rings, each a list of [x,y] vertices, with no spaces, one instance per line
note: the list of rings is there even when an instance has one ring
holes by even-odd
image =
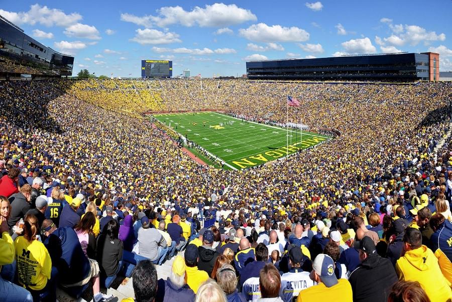
[[[44,244],[38,240],[28,242],[20,236],[14,242],[14,246],[19,283],[34,290],[43,289],[52,271],[52,260]]]

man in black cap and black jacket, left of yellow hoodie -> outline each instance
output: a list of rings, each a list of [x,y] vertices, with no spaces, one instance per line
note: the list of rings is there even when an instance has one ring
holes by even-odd
[[[360,241],[361,264],[349,276],[353,289],[353,300],[383,302],[388,300],[392,284],[397,275],[391,262],[377,254],[375,244],[369,236]]]

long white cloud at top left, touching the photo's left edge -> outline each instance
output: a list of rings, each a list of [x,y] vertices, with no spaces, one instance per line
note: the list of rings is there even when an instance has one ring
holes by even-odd
[[[35,25],[39,23],[48,27],[54,25],[67,27],[82,19],[80,14],[71,13],[66,15],[61,10],[49,9],[47,6],[40,6],[39,4],[30,6],[28,12],[15,13],[0,10],[0,15],[17,25]]]

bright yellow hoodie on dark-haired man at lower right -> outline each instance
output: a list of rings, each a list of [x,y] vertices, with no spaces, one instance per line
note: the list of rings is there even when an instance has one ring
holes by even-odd
[[[431,302],[444,302],[452,298],[450,283],[442,275],[438,259],[425,245],[400,257],[396,272],[399,280],[418,281]]]

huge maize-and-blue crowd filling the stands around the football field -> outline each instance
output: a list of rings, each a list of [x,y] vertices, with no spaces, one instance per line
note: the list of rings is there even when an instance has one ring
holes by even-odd
[[[0,300],[450,300],[451,99],[445,82],[0,81]],[[142,115],[201,109],[341,135],[223,170]]]

